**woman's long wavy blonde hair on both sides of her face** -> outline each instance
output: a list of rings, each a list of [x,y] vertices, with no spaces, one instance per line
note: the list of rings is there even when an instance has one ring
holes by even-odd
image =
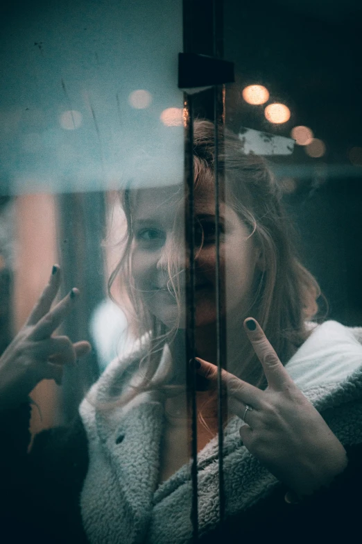
[[[197,185],[209,179],[210,175],[214,177],[214,125],[206,120],[196,120],[193,138],[194,179]],[[227,204],[232,206],[250,229],[250,236],[254,237],[264,261],[264,270],[255,276],[254,299],[248,315],[258,320],[282,363],[286,363],[309,334],[306,321],[311,320],[318,311],[316,299],[320,296],[320,288],[296,256],[291,240],[293,226],[284,212],[281,192],[266,160],[243,154],[239,138],[230,131],[220,129],[218,170],[221,178],[225,176]],[[137,394],[139,390],[153,387],[152,380],[160,363],[160,352],[165,343],[173,340],[177,326],[167,330],[148,311],[133,286],[130,266],[133,237],[130,188],[123,191],[121,199],[127,232],[123,256],[110,276],[109,287],[116,277],[120,277],[123,295],[130,303],[126,309],[131,316],[134,333],[138,338],[149,335],[148,354],[141,361],[144,379],[135,388]],[[172,258],[169,277],[177,300],[177,274],[173,269]],[[251,345],[243,347],[239,361],[243,361],[243,379],[264,387],[264,374]],[[235,368],[230,370],[237,373]]]

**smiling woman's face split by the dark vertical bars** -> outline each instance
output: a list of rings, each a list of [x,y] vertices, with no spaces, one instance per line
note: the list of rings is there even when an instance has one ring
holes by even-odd
[[[148,310],[166,327],[186,321],[184,204],[175,187],[137,190],[133,213],[132,275]],[[200,183],[194,194],[196,242],[196,327],[216,322],[215,199],[212,183]],[[252,281],[259,250],[245,224],[224,203],[219,206],[221,313],[246,317],[252,302]],[[180,282],[180,307],[168,289],[172,255]],[[225,278],[225,281],[223,281]]]

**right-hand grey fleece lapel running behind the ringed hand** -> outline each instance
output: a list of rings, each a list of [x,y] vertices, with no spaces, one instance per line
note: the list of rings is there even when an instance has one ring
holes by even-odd
[[[356,387],[357,385],[357,387]],[[341,384],[304,389],[304,395],[322,412],[329,427],[345,444],[362,440],[362,369]],[[227,516],[232,516],[266,497],[277,479],[241,445],[239,418],[225,429],[224,481]],[[198,519],[200,534],[218,522],[218,442],[214,438],[198,455]],[[148,531],[150,543],[185,543],[191,539],[190,468],[182,467],[155,493],[153,518]],[[172,525],[164,523],[173,519]]]

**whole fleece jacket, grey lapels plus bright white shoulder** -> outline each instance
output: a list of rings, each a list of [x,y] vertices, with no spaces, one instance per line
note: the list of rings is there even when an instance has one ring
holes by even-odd
[[[362,328],[329,321],[318,325],[288,361],[295,383],[344,444],[362,441]],[[129,383],[142,353],[113,361],[92,388],[98,403]],[[167,350],[164,352],[164,358]],[[91,544],[187,543],[191,538],[190,465],[157,488],[163,406],[143,393],[123,408],[80,406],[89,440],[89,471],[81,495]],[[241,445],[241,420],[225,429],[226,511],[232,515],[265,497],[277,479]],[[218,522],[217,437],[198,454],[200,534]]]

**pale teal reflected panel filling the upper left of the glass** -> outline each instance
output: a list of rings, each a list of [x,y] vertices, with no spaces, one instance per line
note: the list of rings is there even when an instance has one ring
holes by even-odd
[[[183,104],[181,2],[18,4],[1,20],[1,194],[107,190],[137,167],[147,183],[146,159],[180,181],[182,126],[160,115]]]

